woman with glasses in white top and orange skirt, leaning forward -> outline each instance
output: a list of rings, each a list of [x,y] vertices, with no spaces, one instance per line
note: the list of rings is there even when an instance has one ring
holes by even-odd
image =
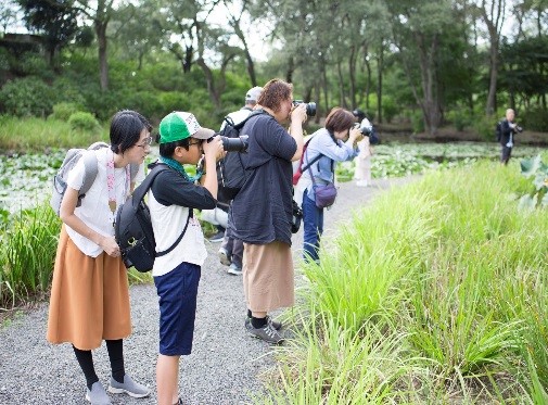
[[[116,212],[132,191],[130,165],[142,165],[150,152],[152,126],[139,113],[124,110],[111,123],[111,147],[94,153],[98,173],[78,204],[86,176],[84,159],[71,170],[61,202],[63,222],[50,298],[47,339],[71,343],[84,371],[86,400],[110,404],[91,351],[102,341],[111,363],[109,391],[143,397],[150,390],[135,382],[124,366],[123,339],[131,332],[127,270],[114,239]]]

